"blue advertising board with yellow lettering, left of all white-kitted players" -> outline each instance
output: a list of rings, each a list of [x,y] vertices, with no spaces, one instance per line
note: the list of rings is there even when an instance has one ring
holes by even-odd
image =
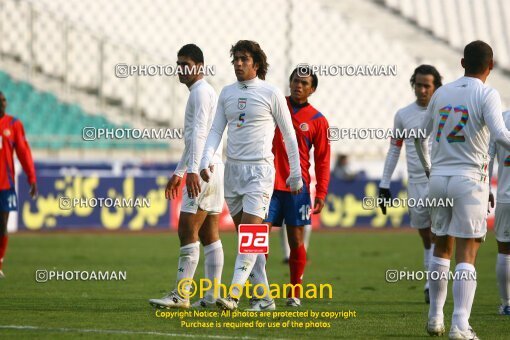
[[[24,176],[23,176],[24,177]],[[165,199],[166,176],[39,175],[39,196],[29,197],[26,179],[18,182],[18,230],[168,229],[171,209]],[[147,199],[148,206],[115,208],[70,206],[61,198]]]

